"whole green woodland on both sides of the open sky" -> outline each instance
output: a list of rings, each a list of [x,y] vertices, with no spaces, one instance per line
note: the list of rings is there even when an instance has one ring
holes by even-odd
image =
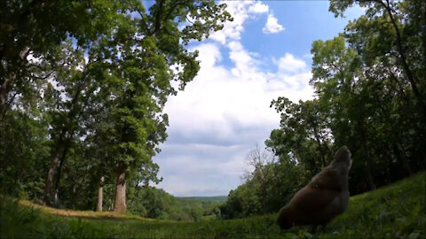
[[[366,12],[312,42],[315,97],[272,101],[280,127],[248,152],[244,183],[225,202],[156,189],[164,106],[200,69],[187,45],[233,16],[213,0],[143,3],[0,1],[2,198],[230,220],[278,212],[342,145],[353,158],[351,196],[426,169],[426,2],[330,0],[336,18],[353,5]]]

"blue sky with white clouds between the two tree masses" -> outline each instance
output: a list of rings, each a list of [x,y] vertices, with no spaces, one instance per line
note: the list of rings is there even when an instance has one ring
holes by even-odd
[[[227,196],[243,183],[248,152],[280,125],[271,101],[313,98],[311,46],[343,32],[362,9],[345,18],[327,1],[228,1],[233,22],[208,40],[191,42],[201,69],[184,91],[170,96],[167,141],[154,157],[173,196]]]

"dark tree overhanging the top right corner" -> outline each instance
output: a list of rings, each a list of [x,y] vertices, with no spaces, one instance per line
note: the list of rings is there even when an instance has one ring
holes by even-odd
[[[375,71],[377,63],[386,68],[383,78],[398,84],[398,94],[403,99],[409,117],[413,117],[416,143],[426,141],[426,91],[424,88],[424,67],[426,43],[424,36],[424,1],[332,1],[330,11],[336,16],[352,4],[367,7],[367,12],[359,19],[350,22],[345,30],[345,38],[353,48],[362,52],[365,67]],[[377,74],[375,74],[376,76]],[[382,78],[381,77],[381,78]],[[390,84],[390,82],[387,82]],[[420,144],[414,147],[422,155],[426,166],[426,151]]]

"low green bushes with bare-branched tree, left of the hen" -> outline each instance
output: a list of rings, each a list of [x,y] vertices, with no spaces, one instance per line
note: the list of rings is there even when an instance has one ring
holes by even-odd
[[[278,212],[283,202],[288,202],[308,180],[309,171],[304,166],[286,159],[275,160],[269,150],[252,150],[248,163],[254,170],[245,176],[244,184],[231,190],[220,207],[222,217],[235,219]]]

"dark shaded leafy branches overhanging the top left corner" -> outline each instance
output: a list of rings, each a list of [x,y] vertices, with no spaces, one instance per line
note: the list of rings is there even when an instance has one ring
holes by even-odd
[[[49,55],[67,36],[80,45],[109,26],[118,2],[13,1],[0,4],[0,115],[34,80],[28,56]]]

